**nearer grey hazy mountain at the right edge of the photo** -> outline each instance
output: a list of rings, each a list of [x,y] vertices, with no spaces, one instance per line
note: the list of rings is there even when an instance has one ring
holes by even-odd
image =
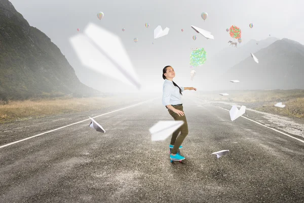
[[[304,45],[282,39],[254,53],[216,81],[216,89],[304,89]],[[231,83],[239,80],[240,83]]]

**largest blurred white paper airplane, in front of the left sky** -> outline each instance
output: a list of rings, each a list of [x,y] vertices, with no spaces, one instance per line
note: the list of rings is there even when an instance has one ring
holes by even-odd
[[[140,88],[140,82],[121,39],[90,23],[83,33],[70,38],[83,65],[103,75]]]

